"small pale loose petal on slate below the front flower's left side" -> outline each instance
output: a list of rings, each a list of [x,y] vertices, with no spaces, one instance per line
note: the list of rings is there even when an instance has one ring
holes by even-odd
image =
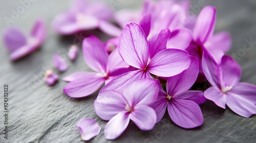
[[[90,140],[100,133],[100,126],[92,118],[82,118],[76,125],[82,140]]]

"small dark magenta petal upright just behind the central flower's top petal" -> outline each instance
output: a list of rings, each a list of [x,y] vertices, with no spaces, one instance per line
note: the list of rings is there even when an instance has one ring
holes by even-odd
[[[140,22],[139,22],[140,28],[143,30],[145,36],[147,37],[148,34],[150,34],[150,28],[151,28],[151,14],[145,14]]]

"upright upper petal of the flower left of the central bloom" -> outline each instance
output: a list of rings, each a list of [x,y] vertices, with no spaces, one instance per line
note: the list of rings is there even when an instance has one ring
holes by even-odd
[[[82,42],[83,58],[94,71],[103,73],[106,71],[106,63],[109,54],[104,49],[103,43],[95,36],[83,39]]]

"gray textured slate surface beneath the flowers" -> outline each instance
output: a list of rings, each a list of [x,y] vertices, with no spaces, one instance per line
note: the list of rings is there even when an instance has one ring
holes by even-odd
[[[1,2],[0,32],[2,34],[7,28],[4,16],[10,17],[11,9],[16,9],[20,3],[19,1]],[[216,32],[227,30],[232,35],[233,43],[229,54],[238,53],[243,48],[245,39],[252,38],[252,41],[256,41],[256,1],[206,0],[205,2],[217,7]],[[10,62],[1,41],[1,87],[9,84],[9,139],[4,139],[2,134],[4,97],[1,96],[0,142],[83,142],[76,124],[80,118],[84,117],[95,118],[102,127],[101,133],[89,142],[256,142],[255,115],[244,118],[229,108],[221,109],[210,101],[201,105],[204,115],[204,124],[201,127],[190,130],[182,129],[165,114],[163,120],[157,123],[151,131],[141,131],[135,124],[130,123],[125,132],[116,140],[104,139],[103,128],[106,122],[95,114],[93,107],[97,93],[86,98],[72,99],[62,92],[62,88],[66,85],[65,82],[59,81],[55,86],[48,87],[42,80],[45,67],[51,65],[53,54],[59,52],[65,54],[68,45],[77,39],[77,36],[60,36],[50,28],[53,17],[67,9],[69,4],[68,0],[37,0],[11,23],[12,26],[18,26],[27,32],[38,16],[44,18],[47,23],[46,42],[40,50],[26,58]],[[141,1],[126,1],[117,6],[115,10],[138,7],[141,4]],[[193,1],[191,6],[197,4],[198,0]],[[106,39],[106,35],[100,31],[96,33],[100,34],[101,39]],[[243,69],[241,79],[243,82],[256,84],[255,54],[256,44],[238,60]],[[69,70],[61,73],[60,77],[84,70],[90,69],[84,63],[80,52],[78,59],[73,63],[70,62]],[[198,86],[204,88],[204,85]],[[4,89],[0,90],[3,95]]]

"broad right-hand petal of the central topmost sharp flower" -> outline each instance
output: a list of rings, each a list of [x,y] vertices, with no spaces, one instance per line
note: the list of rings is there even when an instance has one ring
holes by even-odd
[[[190,65],[190,57],[186,51],[165,49],[158,52],[148,63],[147,71],[160,77],[172,77],[180,74]]]

